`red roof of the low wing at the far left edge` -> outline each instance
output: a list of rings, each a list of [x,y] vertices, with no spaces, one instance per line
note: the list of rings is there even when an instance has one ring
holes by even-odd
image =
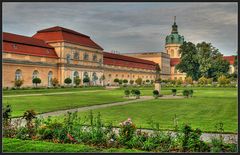
[[[54,48],[43,40],[3,32],[3,52],[58,58]]]

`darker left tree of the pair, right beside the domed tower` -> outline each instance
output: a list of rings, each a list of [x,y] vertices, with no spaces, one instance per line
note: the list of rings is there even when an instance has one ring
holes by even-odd
[[[181,54],[180,63],[176,65],[176,69],[185,72],[187,76],[193,80],[199,78],[199,63],[196,46],[191,42],[184,42],[179,49]]]

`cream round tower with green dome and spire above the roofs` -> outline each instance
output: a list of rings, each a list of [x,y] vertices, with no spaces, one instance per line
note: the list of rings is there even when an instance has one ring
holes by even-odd
[[[179,47],[183,44],[184,37],[178,34],[178,26],[176,24],[176,16],[172,25],[172,32],[166,37],[165,49],[170,58],[179,58]]]

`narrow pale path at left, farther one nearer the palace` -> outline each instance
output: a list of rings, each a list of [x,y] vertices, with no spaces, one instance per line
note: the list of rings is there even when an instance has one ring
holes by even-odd
[[[21,95],[6,95],[3,97],[22,97],[22,96],[42,96],[42,95],[59,95],[59,94],[74,94],[74,93],[89,93],[89,92],[99,92],[108,90],[84,90],[84,91],[71,91],[71,92],[55,92],[55,93],[39,93],[39,94],[21,94]]]

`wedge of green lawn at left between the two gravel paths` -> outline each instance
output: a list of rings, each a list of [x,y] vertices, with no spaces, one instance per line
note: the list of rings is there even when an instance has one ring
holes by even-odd
[[[62,109],[126,101],[122,90],[99,90],[97,92],[76,92],[43,96],[3,97],[3,105],[12,106],[12,116],[21,116],[26,110],[34,109],[44,113]]]

